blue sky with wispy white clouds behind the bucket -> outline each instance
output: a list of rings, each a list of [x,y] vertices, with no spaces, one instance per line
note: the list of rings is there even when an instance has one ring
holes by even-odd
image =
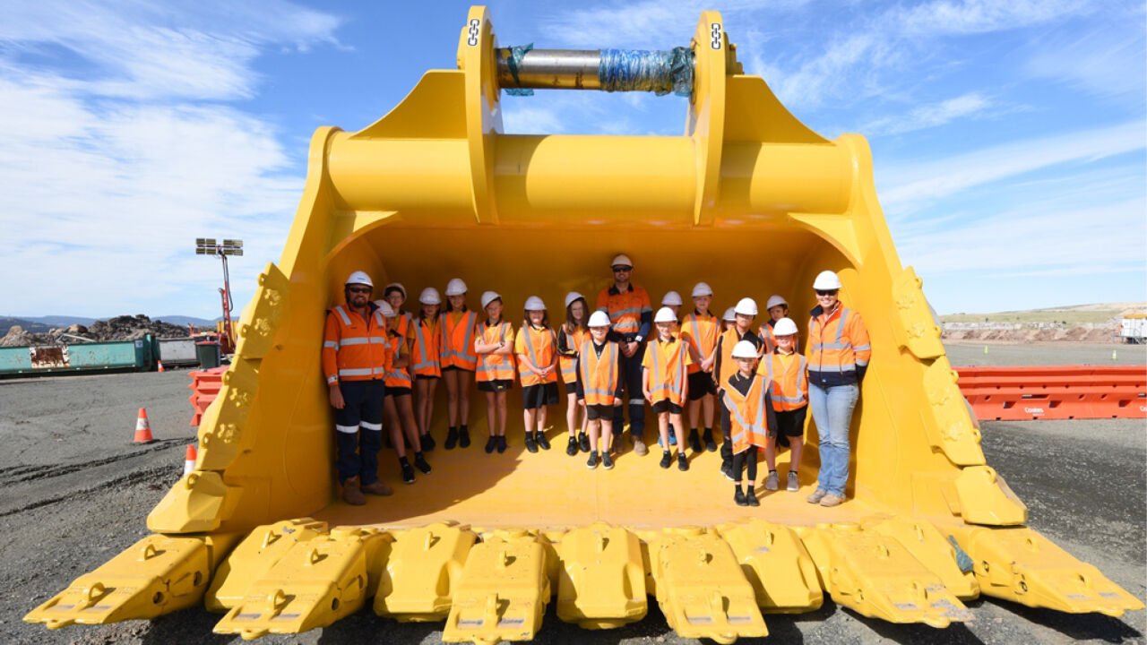
[[[723,13],[747,71],[865,134],[942,313],[1147,301],[1141,1],[491,2],[502,45],[669,48]],[[320,125],[453,68],[468,5],[0,0],[0,314],[214,317],[278,261]],[[508,132],[678,134],[684,99],[504,98]]]

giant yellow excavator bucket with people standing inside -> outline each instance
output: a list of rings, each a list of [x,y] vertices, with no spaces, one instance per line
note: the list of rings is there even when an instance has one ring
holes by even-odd
[[[681,137],[502,134],[505,87],[596,87],[585,72],[599,53],[500,49],[475,7],[459,69],[427,72],[360,132],[319,130],[282,258],[259,275],[200,426],[195,472],[151,512],[153,535],[25,620],[58,628],[204,604],[226,612],[217,632],[255,638],[370,605],[387,620],[445,620],[446,642],[497,643],[531,638],[551,601],[563,621],[609,628],[641,620],[651,597],[681,636],[731,643],[767,634],[764,614],[816,609],[825,592],[866,616],[936,627],[967,620],[961,600],[980,593],[1062,612],[1142,608],[1025,528],[1027,507],[985,464],[921,280],[892,246],[864,138],[829,141],[801,124],[742,72],[716,11],[686,53]],[[618,252],[655,296],[709,282],[717,311],[779,293],[798,317],[814,304],[813,277],[840,273],[873,347],[848,503],[804,500],[813,427],[802,492],[744,508],[716,453],[681,473],[623,451],[615,469],[590,472],[562,450],[523,451],[510,414],[510,450],[486,454],[477,393],[475,445],[432,452],[434,472],[392,497],[337,500],[319,350],[350,272],[412,295],[461,277],[470,306],[497,290],[517,326],[530,295],[552,312],[568,290],[592,302]],[[395,459],[380,461],[397,483]]]

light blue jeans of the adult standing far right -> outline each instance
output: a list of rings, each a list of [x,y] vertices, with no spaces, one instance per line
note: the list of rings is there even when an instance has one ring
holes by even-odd
[[[860,388],[855,383],[828,389],[809,384],[809,407],[820,437],[817,488],[840,497],[844,497],[844,484],[849,481],[849,426],[858,398]]]

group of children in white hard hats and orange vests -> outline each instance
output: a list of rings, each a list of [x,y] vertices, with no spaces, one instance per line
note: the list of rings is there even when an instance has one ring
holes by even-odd
[[[382,300],[375,301],[387,320],[389,341],[384,414],[404,480],[414,480],[404,443],[414,450],[415,465],[429,472],[422,451],[436,446],[430,427],[439,380],[445,381],[447,393],[444,446],[470,445],[467,412],[476,381],[486,397],[490,436],[485,452],[505,452],[506,394],[515,375],[522,386],[528,451],[551,449],[544,429],[548,407],[559,402],[560,380],[567,393],[567,453],[588,452],[588,468],[599,464],[612,468],[612,442],[621,433],[614,428],[614,412],[623,403],[623,370],[619,344],[609,340],[609,314],[591,313],[585,296],[571,292],[564,298],[564,320],[555,328],[543,300],[530,296],[515,332],[498,293],[482,294],[485,320],[467,308],[466,295],[466,283],[454,278],[446,286],[445,305],[439,292],[428,287],[419,295],[418,313],[403,309],[406,289],[398,282],[387,285]],[[661,467],[672,466],[673,446],[680,471],[689,468],[686,444],[695,452],[717,450],[712,428],[719,403],[721,472],[736,483],[736,504],[759,505],[754,494],[759,450],[768,466],[765,488],[778,490],[778,436],[793,451],[786,488],[797,490],[809,398],[797,328],[786,318],[788,304],[780,296],[771,297],[770,319],[752,331],[757,305],[751,298],[742,298],[718,320],[709,311],[712,289],[707,283],[699,282],[692,296],[694,310],[682,319],[680,295],[665,295],[654,316],[656,336],[648,341],[641,363],[642,394],[657,417]],[[702,414],[703,435],[699,433]],[[747,475],[743,480],[742,474]]]

